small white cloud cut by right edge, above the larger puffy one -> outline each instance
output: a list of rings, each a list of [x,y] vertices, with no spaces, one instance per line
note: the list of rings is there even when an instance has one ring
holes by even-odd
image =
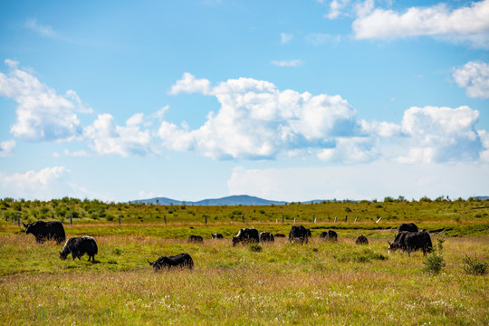
[[[467,62],[456,69],[454,80],[464,87],[471,98],[489,99],[489,65],[485,62]]]

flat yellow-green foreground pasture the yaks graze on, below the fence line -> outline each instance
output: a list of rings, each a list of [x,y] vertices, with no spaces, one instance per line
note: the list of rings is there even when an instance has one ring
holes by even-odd
[[[243,225],[65,225],[67,237],[92,235],[95,264],[59,259],[62,245],[36,244],[12,225],[0,233],[0,323],[25,324],[458,324],[489,322],[487,275],[464,272],[465,255],[487,262],[486,235],[445,238],[442,273],[425,257],[387,252],[395,230],[337,229],[339,242],[286,239],[233,247]],[[290,225],[259,224],[260,231]],[[305,225],[311,227],[314,225]],[[321,225],[315,225],[321,227]],[[420,225],[423,227],[423,225]],[[211,232],[225,234],[210,239]],[[208,234],[203,245],[188,233]],[[274,231],[273,231],[274,232]],[[358,235],[369,245],[354,245]],[[164,235],[164,236],[163,236]],[[256,249],[255,249],[256,250]],[[147,259],[186,252],[193,271],[153,272]]]

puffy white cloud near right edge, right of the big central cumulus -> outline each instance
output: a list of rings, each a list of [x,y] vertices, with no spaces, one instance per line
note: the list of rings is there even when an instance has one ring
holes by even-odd
[[[478,160],[481,139],[475,131],[479,112],[466,106],[456,109],[413,107],[405,111],[401,123],[408,137],[408,155],[402,163],[431,163]]]

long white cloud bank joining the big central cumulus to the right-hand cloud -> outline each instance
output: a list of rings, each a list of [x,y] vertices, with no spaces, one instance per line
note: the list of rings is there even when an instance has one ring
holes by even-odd
[[[186,74],[184,79],[195,77]],[[359,120],[340,95],[280,91],[271,82],[249,78],[215,87],[206,84],[196,90],[215,96],[219,110],[209,112],[197,129],[163,120],[158,136],[164,147],[216,159],[274,159],[285,154],[347,164],[482,159],[484,149],[475,131],[479,112],[466,106],[413,107],[399,125]]]

